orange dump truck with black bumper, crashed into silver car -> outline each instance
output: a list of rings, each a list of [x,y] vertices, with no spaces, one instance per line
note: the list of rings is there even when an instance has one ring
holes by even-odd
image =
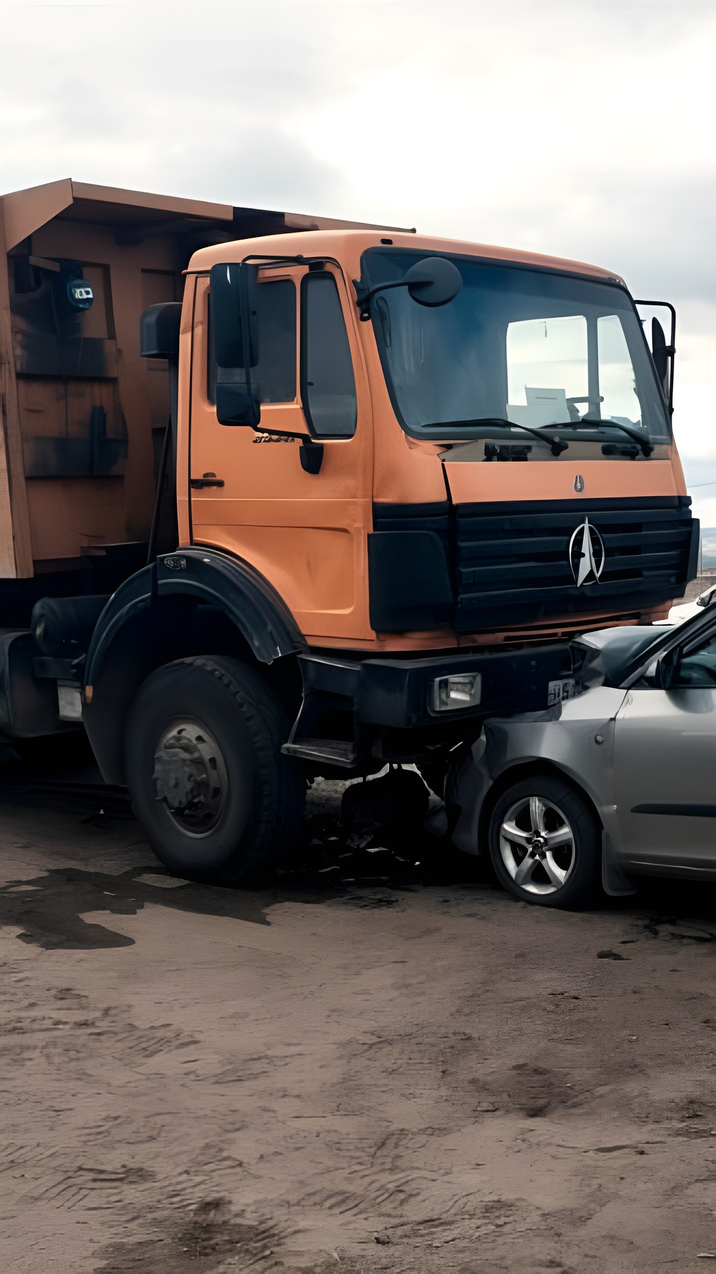
[[[311,775],[440,787],[487,715],[568,693],[573,634],[694,576],[673,311],[645,331],[614,274],[69,181],[3,204],[0,725],[84,721],[172,870],[285,852]]]

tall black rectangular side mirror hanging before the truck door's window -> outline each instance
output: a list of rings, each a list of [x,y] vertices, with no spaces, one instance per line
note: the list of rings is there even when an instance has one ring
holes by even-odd
[[[259,362],[259,331],[254,293],[257,266],[222,262],[211,266],[210,339],[217,357],[217,419],[219,424],[256,428],[261,406],[251,386]],[[242,376],[237,376],[242,372]]]

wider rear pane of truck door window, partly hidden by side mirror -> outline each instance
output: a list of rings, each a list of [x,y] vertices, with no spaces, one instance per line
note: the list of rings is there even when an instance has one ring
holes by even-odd
[[[296,401],[296,284],[293,279],[271,279],[256,288],[259,327],[259,363],[251,368],[251,387],[260,403]],[[246,373],[237,367],[217,367],[211,334],[211,297],[209,296],[209,363],[206,397],[217,401],[220,385],[243,385]]]

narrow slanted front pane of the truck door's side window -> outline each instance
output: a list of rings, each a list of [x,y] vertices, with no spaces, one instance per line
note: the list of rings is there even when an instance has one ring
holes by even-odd
[[[301,397],[316,436],[355,433],[350,345],[335,279],[327,271],[301,280]]]

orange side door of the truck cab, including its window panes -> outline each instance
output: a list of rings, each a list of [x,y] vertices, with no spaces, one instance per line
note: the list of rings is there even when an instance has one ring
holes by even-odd
[[[209,278],[197,279],[190,418],[191,534],[250,562],[319,645],[372,637],[366,544],[372,429],[355,318],[338,269],[266,266],[257,284],[261,429],[217,420]],[[324,445],[301,462],[304,405]],[[339,434],[336,437],[336,434]],[[217,485],[220,483],[220,485]]]

